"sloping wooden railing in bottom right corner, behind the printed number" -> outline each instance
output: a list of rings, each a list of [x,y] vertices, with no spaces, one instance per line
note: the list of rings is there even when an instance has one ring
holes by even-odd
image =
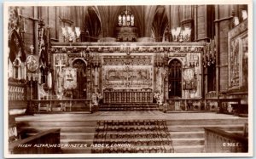
[[[205,151],[214,152],[247,152],[248,139],[243,134],[228,133],[219,128],[205,128]]]

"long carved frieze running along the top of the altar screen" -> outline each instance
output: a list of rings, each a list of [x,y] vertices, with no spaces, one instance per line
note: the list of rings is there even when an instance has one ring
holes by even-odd
[[[203,53],[205,43],[195,43],[195,45],[186,44],[177,45],[159,45],[159,43],[148,43],[143,44],[123,44],[123,43],[70,43],[67,45],[65,43],[56,45],[53,43],[50,49],[51,53]]]

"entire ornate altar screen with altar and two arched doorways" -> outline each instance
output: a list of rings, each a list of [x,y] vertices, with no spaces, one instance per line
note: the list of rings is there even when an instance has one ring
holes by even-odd
[[[207,47],[206,43],[52,43],[51,98],[101,99],[103,105],[201,99],[201,61]]]

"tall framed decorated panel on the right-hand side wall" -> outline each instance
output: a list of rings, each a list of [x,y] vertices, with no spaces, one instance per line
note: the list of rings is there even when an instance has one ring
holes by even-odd
[[[247,20],[229,31],[229,88],[247,90]]]

